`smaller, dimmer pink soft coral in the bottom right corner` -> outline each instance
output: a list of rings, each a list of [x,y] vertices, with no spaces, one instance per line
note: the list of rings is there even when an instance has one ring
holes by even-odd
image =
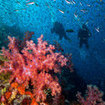
[[[96,86],[88,85],[85,98],[78,92],[77,98],[81,105],[105,105],[102,100],[103,92],[99,91]]]

